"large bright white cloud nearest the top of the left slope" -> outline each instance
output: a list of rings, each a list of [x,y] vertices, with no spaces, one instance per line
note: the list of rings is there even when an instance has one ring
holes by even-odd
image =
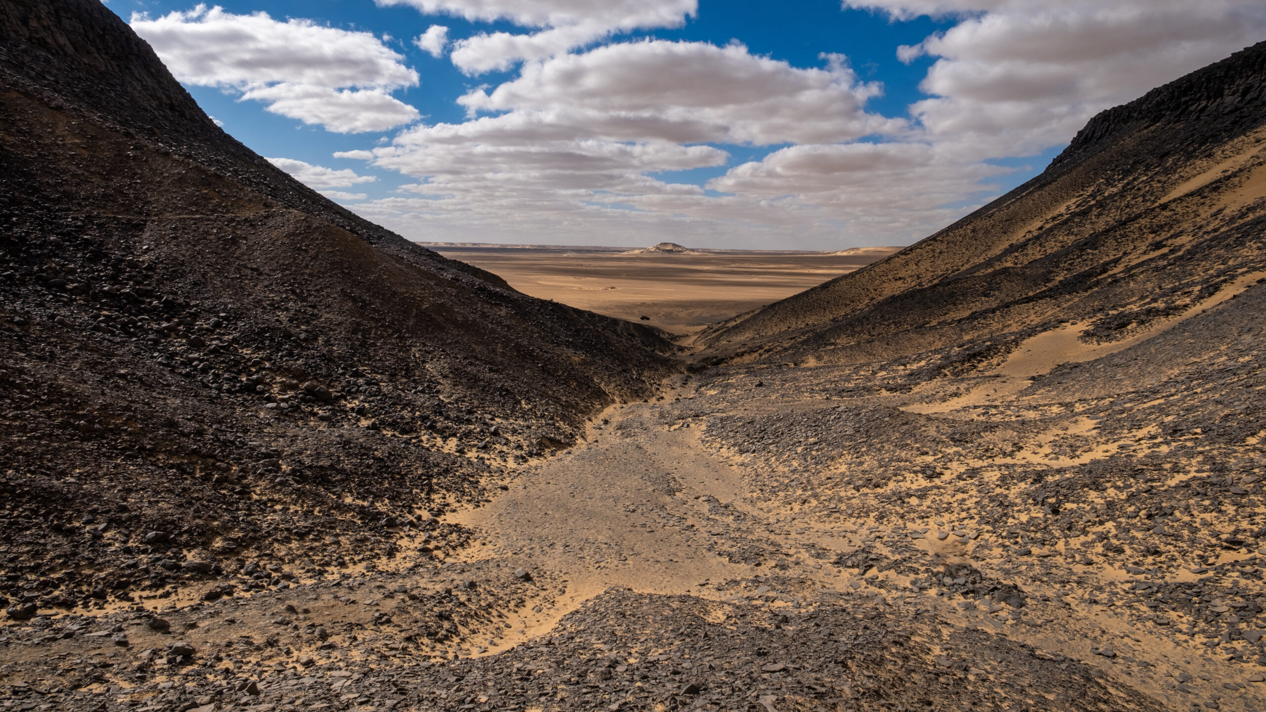
[[[385,130],[418,118],[391,91],[418,84],[404,57],[367,32],[235,15],[197,5],[132,28],[185,84],[235,90],[268,110],[328,130]]]

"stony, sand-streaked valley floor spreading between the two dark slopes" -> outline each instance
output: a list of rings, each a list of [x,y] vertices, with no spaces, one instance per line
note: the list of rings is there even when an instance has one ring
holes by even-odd
[[[1246,277],[1204,308],[1252,309],[1261,290]],[[1152,536],[1162,505],[1160,528],[1215,542],[1261,512],[1113,474],[1152,447],[1151,424],[1100,414],[1133,397],[1041,381],[1055,361],[1076,381],[1165,340],[1205,343],[1188,318],[1201,312],[1113,350],[1070,346],[1070,324],[960,378],[924,379],[923,362],[677,375],[591,417],[568,450],[491,473],[481,502],[438,499],[438,522],[392,530],[386,561],[276,566],[266,578],[289,579],[271,589],[203,602],[191,587],[139,616],[11,628],[25,645],[8,649],[9,679],[44,682],[10,689],[38,699],[78,677],[70,708],[152,712],[1256,709],[1261,637],[1238,623],[1256,620],[1257,552],[1179,547],[1165,568],[1114,552]],[[1132,407],[1163,421],[1182,378]],[[947,447],[947,428],[979,432]],[[1180,467],[1163,478],[1225,497],[1256,480],[1166,456]],[[1112,484],[1061,489],[1100,466]],[[1017,479],[1032,467],[1048,481]]]

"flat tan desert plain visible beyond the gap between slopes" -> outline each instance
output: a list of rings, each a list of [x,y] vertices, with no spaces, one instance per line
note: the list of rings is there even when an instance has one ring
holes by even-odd
[[[898,252],[695,250],[420,242],[538,299],[691,334]]]

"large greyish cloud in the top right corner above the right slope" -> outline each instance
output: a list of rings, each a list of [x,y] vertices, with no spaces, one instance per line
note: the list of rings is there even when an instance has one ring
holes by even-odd
[[[912,114],[982,155],[1067,141],[1095,113],[1266,38],[1258,0],[846,0],[846,6],[953,16],[898,56],[936,57]]]

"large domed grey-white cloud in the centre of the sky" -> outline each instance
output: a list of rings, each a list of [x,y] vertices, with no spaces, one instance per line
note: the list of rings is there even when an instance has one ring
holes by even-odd
[[[629,42],[524,65],[520,76],[458,103],[470,111],[511,111],[527,124],[619,141],[785,143],[844,141],[901,130],[900,120],[865,110],[881,92],[842,57],[798,68],[742,44]]]

